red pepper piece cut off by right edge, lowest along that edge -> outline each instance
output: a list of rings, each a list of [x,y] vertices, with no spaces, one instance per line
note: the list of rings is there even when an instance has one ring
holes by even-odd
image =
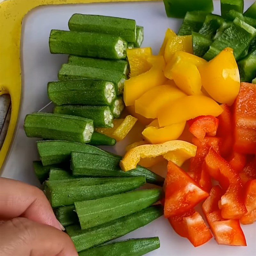
[[[249,180],[245,184],[245,206],[248,212],[240,221],[242,224],[252,224],[256,221],[256,180]]]

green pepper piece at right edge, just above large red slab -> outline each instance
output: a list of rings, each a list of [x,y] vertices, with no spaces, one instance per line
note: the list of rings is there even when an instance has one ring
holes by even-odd
[[[251,82],[256,72],[256,49],[237,63],[241,82]]]

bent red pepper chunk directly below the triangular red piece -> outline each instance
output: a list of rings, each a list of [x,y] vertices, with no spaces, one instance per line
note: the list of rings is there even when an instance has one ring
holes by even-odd
[[[202,216],[194,209],[178,216],[168,218],[175,232],[188,238],[195,246],[205,244],[212,238],[210,229],[206,226]]]

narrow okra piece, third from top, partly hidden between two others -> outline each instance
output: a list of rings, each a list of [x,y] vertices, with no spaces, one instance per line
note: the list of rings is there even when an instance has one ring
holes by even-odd
[[[130,44],[130,43],[129,43]],[[128,48],[129,48],[128,44]],[[103,59],[93,59],[84,58],[74,55],[69,55],[68,64],[76,66],[84,66],[91,68],[103,68],[108,70],[114,70],[124,75],[128,75],[128,61],[127,60],[103,60]]]

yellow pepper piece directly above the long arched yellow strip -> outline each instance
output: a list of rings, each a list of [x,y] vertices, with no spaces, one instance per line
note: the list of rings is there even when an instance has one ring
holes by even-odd
[[[158,120],[156,119],[157,123]],[[155,124],[153,124],[155,125]],[[142,132],[142,135],[148,142],[151,144],[159,144],[169,140],[177,140],[180,135],[182,134],[186,125],[186,121],[178,123],[178,124],[171,124],[167,125],[163,128],[158,128],[154,126],[148,126]]]

